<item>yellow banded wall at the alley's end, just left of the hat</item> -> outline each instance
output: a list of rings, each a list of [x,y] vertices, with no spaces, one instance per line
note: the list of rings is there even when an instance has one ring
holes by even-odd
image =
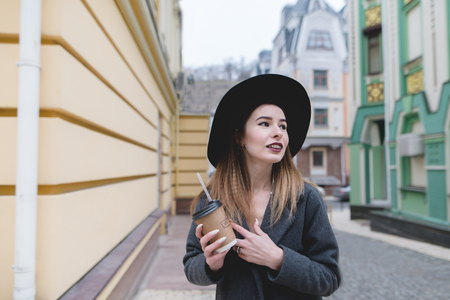
[[[208,182],[208,145],[209,115],[180,115],[179,157],[176,174],[177,197],[195,197],[202,190],[197,177],[200,173]]]

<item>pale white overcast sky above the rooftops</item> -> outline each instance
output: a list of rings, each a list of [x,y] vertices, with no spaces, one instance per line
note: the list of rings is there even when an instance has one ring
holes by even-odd
[[[345,0],[325,0],[339,11]],[[270,50],[285,5],[296,0],[180,0],[183,67],[245,63]]]

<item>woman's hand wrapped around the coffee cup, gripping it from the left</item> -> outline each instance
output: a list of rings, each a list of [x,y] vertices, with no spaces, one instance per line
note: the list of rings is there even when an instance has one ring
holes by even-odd
[[[225,237],[218,239],[211,245],[208,245],[208,242],[216,236],[216,234],[219,232],[219,230],[213,230],[208,232],[207,234],[203,235],[202,233],[203,224],[200,224],[197,226],[197,229],[195,230],[195,235],[200,241],[200,245],[202,246],[203,253],[206,257],[206,263],[208,264],[211,271],[218,271],[220,268],[223,267],[223,261],[225,259],[225,255],[227,255],[228,250],[224,251],[222,253],[217,253],[216,250],[219,248],[219,246],[225,241]]]

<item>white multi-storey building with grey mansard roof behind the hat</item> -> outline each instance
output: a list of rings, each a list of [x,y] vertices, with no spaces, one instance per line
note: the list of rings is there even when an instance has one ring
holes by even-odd
[[[271,55],[270,72],[297,79],[311,98],[310,130],[297,155],[300,171],[329,189],[345,185],[353,115],[346,100],[346,7],[336,12],[323,0],[284,7]]]

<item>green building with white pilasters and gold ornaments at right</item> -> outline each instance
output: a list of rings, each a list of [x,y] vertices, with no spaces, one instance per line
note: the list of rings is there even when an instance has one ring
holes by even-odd
[[[349,95],[357,107],[351,217],[421,240],[438,230],[429,241],[442,244],[450,233],[449,1],[348,5]]]

